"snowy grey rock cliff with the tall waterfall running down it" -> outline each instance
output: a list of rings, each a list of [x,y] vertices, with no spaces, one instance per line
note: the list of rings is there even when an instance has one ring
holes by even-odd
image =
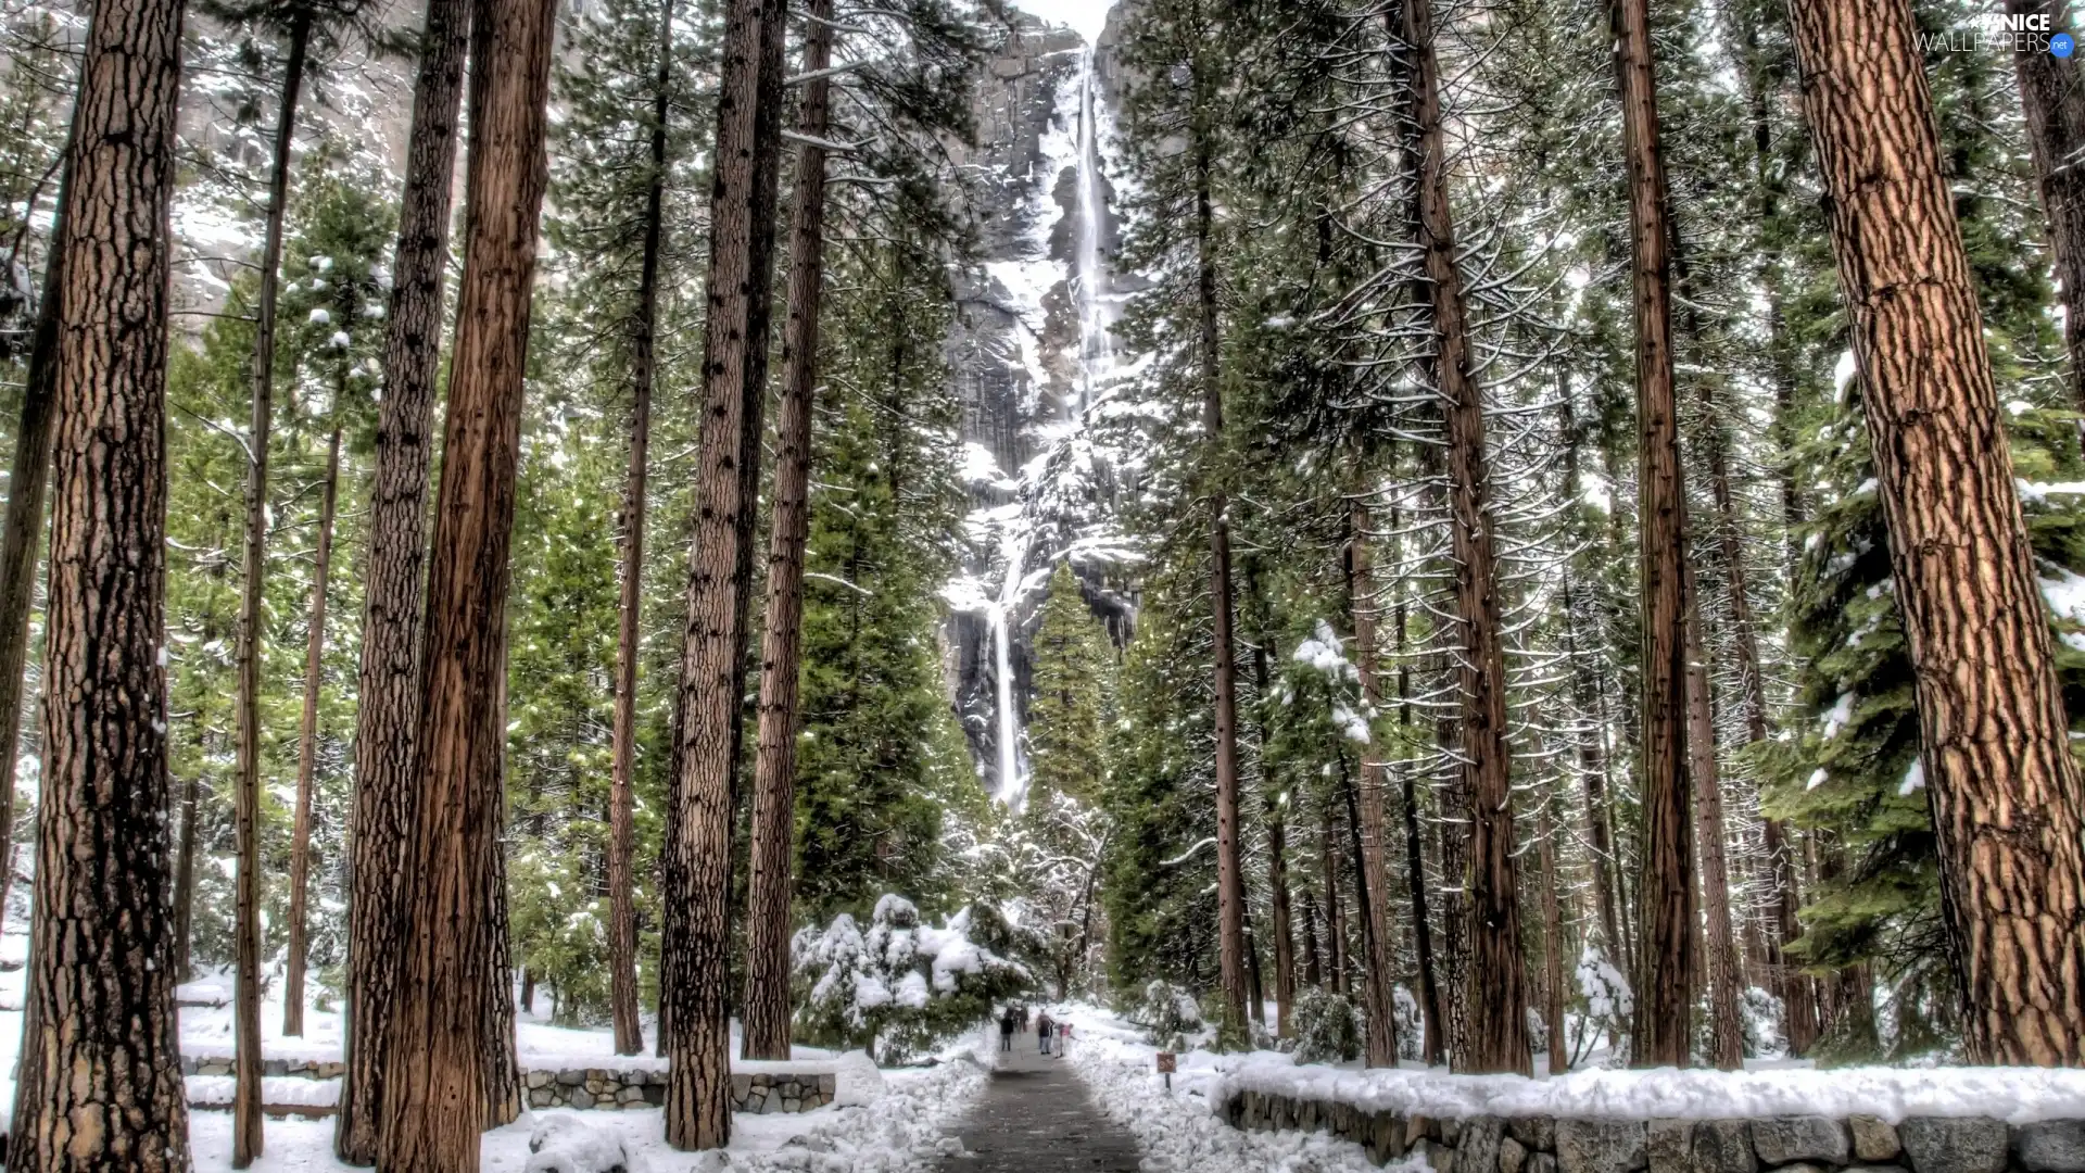
[[[1134,461],[1093,428],[1122,376],[1109,328],[1126,290],[1109,263],[1111,31],[1088,48],[1024,23],[984,73],[978,146],[961,161],[982,265],[959,284],[949,340],[972,511],[945,647],[980,772],[1009,804],[1024,791],[1028,645],[1055,564],[1072,564],[1115,643],[1136,618],[1136,555],[1115,526]]]

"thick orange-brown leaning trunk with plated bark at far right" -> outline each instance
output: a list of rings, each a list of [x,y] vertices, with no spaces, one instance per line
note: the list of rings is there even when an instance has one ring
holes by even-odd
[[[1906,0],[1795,0],[1972,1062],[2085,1064],[2079,766]]]

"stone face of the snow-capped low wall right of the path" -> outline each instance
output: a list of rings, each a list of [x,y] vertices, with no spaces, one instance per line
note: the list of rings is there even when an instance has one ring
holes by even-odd
[[[1447,1121],[1266,1092],[1236,1092],[1220,1115],[1241,1129],[1328,1131],[1376,1165],[1424,1154],[1434,1173],[2085,1173],[2085,1119]]]

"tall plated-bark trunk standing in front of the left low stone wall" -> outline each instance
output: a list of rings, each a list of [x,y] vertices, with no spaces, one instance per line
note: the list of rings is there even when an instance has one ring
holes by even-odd
[[[667,812],[661,958],[661,1016],[671,1060],[665,1138],[682,1150],[721,1148],[732,1138],[732,806],[759,505],[784,13],[780,0],[732,0],[723,25],[703,336],[705,424]]]

